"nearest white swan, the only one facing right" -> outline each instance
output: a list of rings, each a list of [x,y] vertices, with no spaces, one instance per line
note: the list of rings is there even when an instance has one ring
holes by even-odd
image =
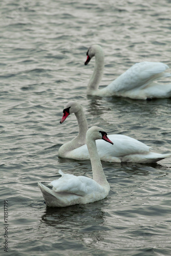
[[[86,135],[86,142],[90,154],[93,179],[84,176],[63,174],[58,180],[52,181],[49,185],[52,190],[38,182],[45,202],[52,207],[65,207],[74,204],[87,204],[99,201],[108,196],[110,185],[105,178],[100,158],[97,153],[95,140],[103,139],[113,144],[107,134],[98,126],[91,127]]]

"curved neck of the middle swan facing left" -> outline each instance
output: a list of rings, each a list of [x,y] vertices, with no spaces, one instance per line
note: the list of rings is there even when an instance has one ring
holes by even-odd
[[[67,157],[67,154],[71,152],[72,150],[75,150],[75,148],[80,147],[84,144],[86,144],[86,133],[88,131],[88,123],[86,116],[83,113],[83,109],[81,108],[78,112],[75,113],[75,116],[78,121],[79,126],[79,133],[77,137],[75,137],[73,140],[63,144],[59,148],[58,155],[60,157]]]

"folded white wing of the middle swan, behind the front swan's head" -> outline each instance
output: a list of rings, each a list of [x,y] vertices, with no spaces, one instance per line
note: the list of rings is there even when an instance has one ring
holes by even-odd
[[[109,135],[108,138],[112,140],[114,145],[105,143],[103,140],[96,140],[100,157],[104,157],[104,155],[106,155],[106,157],[123,157],[126,155],[145,154],[149,152],[147,145],[131,137],[115,134]]]

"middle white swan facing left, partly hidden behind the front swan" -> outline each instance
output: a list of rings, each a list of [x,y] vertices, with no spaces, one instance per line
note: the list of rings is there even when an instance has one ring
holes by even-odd
[[[79,134],[73,140],[63,144],[58,151],[58,156],[62,158],[70,158],[76,160],[90,159],[88,148],[86,145],[86,132],[88,123],[84,115],[82,106],[77,101],[70,101],[63,110],[62,123],[66,118],[74,113],[79,126]],[[113,134],[109,135],[109,139],[113,141],[114,146],[97,140],[97,151],[100,159],[106,162],[136,162],[136,163],[156,163],[171,154],[158,154],[149,152],[151,147],[131,137]]]

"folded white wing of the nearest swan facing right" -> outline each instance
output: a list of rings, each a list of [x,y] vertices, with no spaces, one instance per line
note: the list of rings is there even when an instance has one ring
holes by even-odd
[[[52,181],[50,185],[53,186],[52,189],[56,192],[65,192],[78,196],[86,196],[93,193],[93,191],[99,191],[99,193],[102,193],[104,190],[96,181],[88,177],[63,173],[62,177],[58,180]]]

